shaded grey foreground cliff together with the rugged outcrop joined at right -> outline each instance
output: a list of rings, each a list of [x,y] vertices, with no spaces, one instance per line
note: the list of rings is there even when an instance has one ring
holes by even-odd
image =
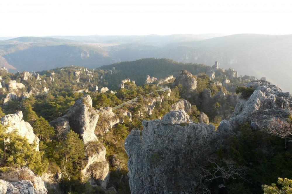
[[[241,97],[233,118],[223,120],[217,130],[213,125],[192,123],[184,111],[143,121],[142,134],[133,129],[125,141],[132,193],[196,193],[203,179],[200,166],[224,146],[224,140],[238,133],[239,125],[248,122],[258,130],[272,127],[274,119],[288,122],[290,93],[264,80],[250,82],[248,87],[255,89],[253,94]]]

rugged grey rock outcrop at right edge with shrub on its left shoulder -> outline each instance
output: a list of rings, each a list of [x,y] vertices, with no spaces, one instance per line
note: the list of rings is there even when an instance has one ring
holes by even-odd
[[[251,127],[269,126],[273,119],[287,122],[292,108],[292,95],[265,80],[251,81],[247,87],[255,89],[249,98],[238,99],[229,122],[238,126],[248,122]]]

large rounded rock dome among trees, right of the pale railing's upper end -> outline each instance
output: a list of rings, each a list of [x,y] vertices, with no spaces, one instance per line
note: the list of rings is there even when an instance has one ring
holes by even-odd
[[[178,86],[182,84],[182,86],[188,91],[193,91],[197,88],[197,81],[195,77],[189,73],[187,70],[180,70],[179,75],[175,78],[172,83],[172,87]]]

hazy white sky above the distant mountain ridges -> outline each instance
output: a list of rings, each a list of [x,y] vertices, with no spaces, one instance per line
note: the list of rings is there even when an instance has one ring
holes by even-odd
[[[0,36],[292,34],[292,1],[0,0]]]

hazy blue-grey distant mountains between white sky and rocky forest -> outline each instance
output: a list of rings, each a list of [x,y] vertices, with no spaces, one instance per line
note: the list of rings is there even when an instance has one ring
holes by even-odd
[[[18,37],[0,41],[0,66],[40,71],[70,65],[96,68],[151,57],[207,65],[219,60],[221,68],[267,77],[292,91],[291,51],[292,35]]]

